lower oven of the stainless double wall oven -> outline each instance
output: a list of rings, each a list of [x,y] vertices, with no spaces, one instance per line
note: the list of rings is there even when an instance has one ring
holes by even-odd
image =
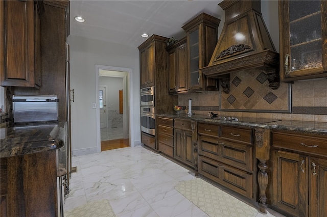
[[[154,107],[141,107],[141,131],[155,135]]]

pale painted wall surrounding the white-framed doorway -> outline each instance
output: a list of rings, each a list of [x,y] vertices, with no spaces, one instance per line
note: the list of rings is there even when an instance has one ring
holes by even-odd
[[[137,47],[114,44],[83,37],[69,36],[71,89],[75,101],[71,103],[73,154],[97,152],[96,76],[95,65],[131,68],[134,114],[139,114],[139,52]],[[141,143],[140,117],[134,115],[134,141]]]

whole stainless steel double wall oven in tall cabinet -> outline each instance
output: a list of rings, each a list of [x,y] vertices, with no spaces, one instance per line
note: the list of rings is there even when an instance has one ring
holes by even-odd
[[[141,89],[141,131],[155,135],[154,87]]]

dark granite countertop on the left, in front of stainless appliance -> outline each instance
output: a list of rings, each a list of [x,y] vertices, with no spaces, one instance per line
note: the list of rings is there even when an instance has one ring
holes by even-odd
[[[3,127],[0,156],[10,157],[58,149],[57,175],[66,174],[66,123],[33,123]],[[64,148],[62,148],[64,147]]]

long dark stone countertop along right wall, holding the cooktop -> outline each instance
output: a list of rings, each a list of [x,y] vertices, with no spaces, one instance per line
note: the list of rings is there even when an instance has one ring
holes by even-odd
[[[248,123],[248,122],[235,122],[224,121],[218,119],[205,118],[205,116],[192,116],[176,114],[158,114],[160,117],[188,119],[197,122],[216,123],[230,126],[252,127],[252,128],[270,128],[275,130],[297,131],[303,133],[313,133],[327,135],[327,123],[324,122],[310,122],[310,121],[291,121],[291,120],[278,120],[268,123]],[[316,126],[319,125],[319,126]]]

